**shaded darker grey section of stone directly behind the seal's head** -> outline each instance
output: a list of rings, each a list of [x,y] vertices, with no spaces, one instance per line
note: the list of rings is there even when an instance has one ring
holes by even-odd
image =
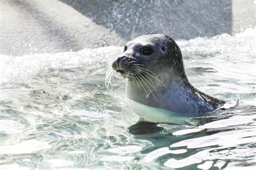
[[[191,39],[232,32],[232,1],[67,1],[93,22],[116,30],[129,39],[137,34],[168,34],[174,39]]]

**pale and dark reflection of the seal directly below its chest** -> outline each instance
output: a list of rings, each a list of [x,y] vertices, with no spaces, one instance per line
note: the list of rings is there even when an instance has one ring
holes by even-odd
[[[149,107],[138,102],[129,100],[131,108],[140,120],[131,125],[129,133],[133,134],[134,139],[141,139],[150,141],[153,147],[145,150],[149,153],[156,148],[170,146],[171,144],[189,138],[189,137],[175,137],[172,132],[177,131],[180,127],[187,128],[194,126],[186,120],[192,118],[194,114],[178,114],[164,109]],[[196,136],[201,136],[199,133]]]

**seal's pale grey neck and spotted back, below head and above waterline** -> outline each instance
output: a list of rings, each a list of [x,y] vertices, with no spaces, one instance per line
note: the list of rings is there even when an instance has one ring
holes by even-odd
[[[145,84],[142,87],[128,81],[126,84],[127,97],[150,107],[180,113],[208,112],[219,107],[218,102],[210,102],[217,99],[194,88],[187,80],[170,81],[165,85],[166,87],[161,84],[162,86],[154,86],[153,88],[149,83],[147,86]]]

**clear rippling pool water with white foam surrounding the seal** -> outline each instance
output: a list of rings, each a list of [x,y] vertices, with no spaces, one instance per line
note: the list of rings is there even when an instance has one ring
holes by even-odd
[[[123,47],[1,55],[0,168],[254,169],[255,33],[177,41],[191,83],[228,103],[176,125],[134,125],[124,80],[106,89]]]

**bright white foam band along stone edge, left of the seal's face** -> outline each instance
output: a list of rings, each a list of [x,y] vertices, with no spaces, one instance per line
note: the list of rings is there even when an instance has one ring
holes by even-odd
[[[93,63],[110,63],[120,53],[120,47],[83,49],[79,52],[56,54],[34,54],[8,56],[0,54],[0,84],[22,81],[39,73],[40,70],[77,68]]]

